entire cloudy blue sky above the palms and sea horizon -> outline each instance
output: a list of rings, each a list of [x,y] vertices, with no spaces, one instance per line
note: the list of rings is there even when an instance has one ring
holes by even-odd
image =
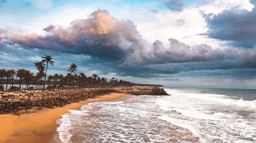
[[[256,88],[255,0],[0,0],[0,69],[51,54],[79,72],[165,87]]]

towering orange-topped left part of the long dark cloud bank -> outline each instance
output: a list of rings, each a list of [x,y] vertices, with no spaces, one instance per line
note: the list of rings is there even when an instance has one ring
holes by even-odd
[[[27,47],[88,54],[103,59],[132,59],[140,62],[150,52],[132,21],[118,20],[108,11],[98,10],[91,17],[77,19],[65,28],[49,25],[45,35],[13,34],[11,40]]]

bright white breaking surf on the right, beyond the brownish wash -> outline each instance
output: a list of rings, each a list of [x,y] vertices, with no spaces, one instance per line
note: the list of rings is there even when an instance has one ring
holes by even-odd
[[[201,142],[255,142],[255,100],[168,89],[166,92],[172,96],[156,100],[159,108],[167,111],[159,120],[189,129]]]

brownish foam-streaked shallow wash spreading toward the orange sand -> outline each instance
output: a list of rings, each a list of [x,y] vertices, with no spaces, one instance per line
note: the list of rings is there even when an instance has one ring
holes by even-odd
[[[62,124],[57,129],[59,138],[65,143],[182,142],[195,138],[187,129],[157,120],[159,109],[154,102],[156,98],[138,96],[137,100],[84,105],[82,111],[62,116]],[[83,116],[82,112],[90,116]]]

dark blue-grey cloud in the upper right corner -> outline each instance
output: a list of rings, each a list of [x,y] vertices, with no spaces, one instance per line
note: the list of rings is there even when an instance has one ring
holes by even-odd
[[[250,1],[252,4],[256,2]],[[208,37],[229,41],[232,46],[252,48],[256,44],[256,8],[251,11],[233,7],[219,14],[204,15]]]

